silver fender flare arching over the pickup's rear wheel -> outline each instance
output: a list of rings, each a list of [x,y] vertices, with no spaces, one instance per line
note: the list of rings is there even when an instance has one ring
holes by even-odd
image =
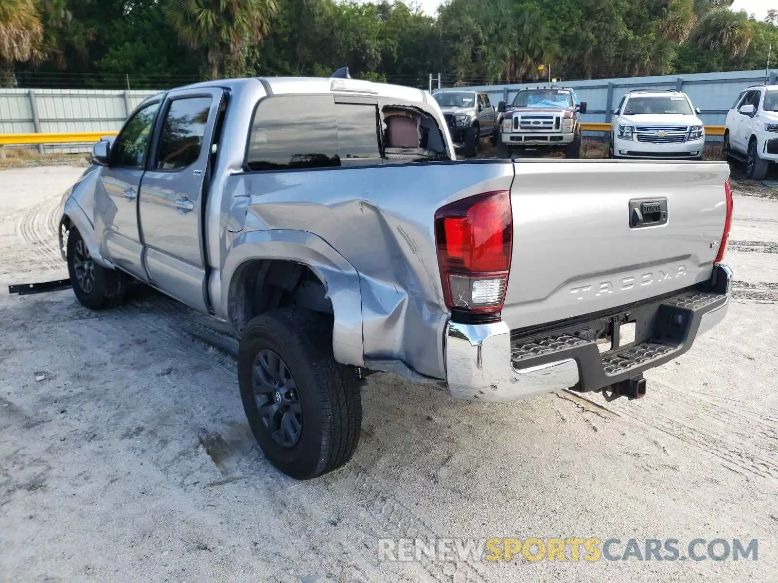
[[[247,261],[286,260],[306,265],[321,280],[332,304],[335,325],[332,350],[344,365],[364,366],[362,293],[359,273],[320,236],[293,229],[271,229],[240,233],[223,260],[221,269],[221,316],[230,321],[230,295],[235,275]]]

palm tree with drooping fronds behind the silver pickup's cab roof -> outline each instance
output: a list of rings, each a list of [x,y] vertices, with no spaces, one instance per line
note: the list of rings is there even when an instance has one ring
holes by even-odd
[[[205,47],[208,75],[243,73],[247,48],[270,32],[275,0],[169,0],[166,12],[178,37],[192,48]]]

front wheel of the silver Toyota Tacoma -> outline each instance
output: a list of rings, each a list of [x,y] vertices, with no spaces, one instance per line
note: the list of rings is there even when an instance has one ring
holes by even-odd
[[[89,309],[114,308],[124,302],[127,275],[97,264],[78,229],[68,233],[68,274],[75,298]]]

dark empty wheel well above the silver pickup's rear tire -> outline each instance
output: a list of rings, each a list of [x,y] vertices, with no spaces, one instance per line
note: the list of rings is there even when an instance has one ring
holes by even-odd
[[[288,305],[332,313],[327,288],[305,264],[256,259],[238,267],[227,298],[228,316],[238,332],[254,317]]]

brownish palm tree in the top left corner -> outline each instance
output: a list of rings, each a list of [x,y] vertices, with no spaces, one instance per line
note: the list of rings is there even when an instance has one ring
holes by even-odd
[[[16,85],[16,63],[43,60],[43,35],[34,0],[0,0],[0,87]]]

